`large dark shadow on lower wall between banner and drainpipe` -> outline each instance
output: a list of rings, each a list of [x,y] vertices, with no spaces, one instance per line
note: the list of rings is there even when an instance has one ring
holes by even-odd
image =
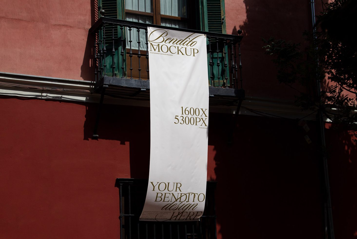
[[[210,114],[210,125],[231,120]],[[239,115],[232,130],[232,146],[227,131],[209,134],[221,238],[322,239],[318,160],[297,121]]]

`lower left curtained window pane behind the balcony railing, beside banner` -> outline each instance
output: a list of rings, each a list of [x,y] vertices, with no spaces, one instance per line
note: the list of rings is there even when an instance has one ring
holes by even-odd
[[[134,15],[134,14],[125,14],[126,18],[125,20],[127,21],[134,21],[136,23],[150,23],[152,24],[152,17],[150,16],[139,16],[139,15]],[[126,48],[130,47],[130,36],[131,36],[131,49],[139,49],[139,44],[138,42],[138,32],[136,28],[132,28],[132,30],[129,33],[129,28],[126,28]],[[145,36],[145,30],[141,29],[140,30],[140,50],[146,50],[146,36]]]

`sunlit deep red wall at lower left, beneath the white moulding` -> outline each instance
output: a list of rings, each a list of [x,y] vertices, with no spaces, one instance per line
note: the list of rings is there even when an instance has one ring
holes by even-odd
[[[129,143],[84,139],[82,104],[1,99],[0,114],[0,237],[119,238]]]

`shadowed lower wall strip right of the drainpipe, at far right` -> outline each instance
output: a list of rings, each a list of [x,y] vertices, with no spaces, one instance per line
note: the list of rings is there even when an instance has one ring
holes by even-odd
[[[357,237],[357,145],[347,131],[325,130],[336,238]]]

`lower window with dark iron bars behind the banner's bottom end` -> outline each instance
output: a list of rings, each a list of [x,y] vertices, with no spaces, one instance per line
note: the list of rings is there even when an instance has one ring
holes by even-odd
[[[216,183],[207,182],[206,205],[200,221],[153,222],[139,221],[144,207],[147,180],[116,179],[115,186],[119,188],[120,238],[140,239],[215,239]]]

